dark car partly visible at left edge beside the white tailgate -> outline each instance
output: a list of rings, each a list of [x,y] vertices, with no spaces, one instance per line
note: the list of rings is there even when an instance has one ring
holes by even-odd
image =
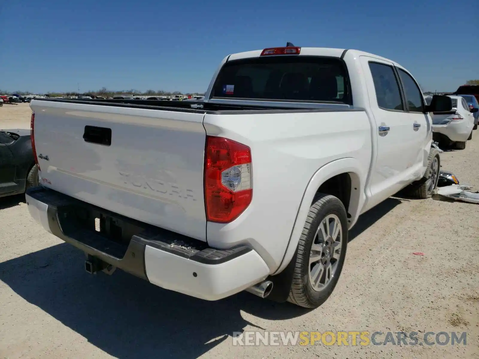
[[[0,197],[38,186],[30,130],[0,130]]]

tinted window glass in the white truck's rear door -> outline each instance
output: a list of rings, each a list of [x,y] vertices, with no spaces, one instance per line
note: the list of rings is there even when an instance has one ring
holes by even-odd
[[[392,66],[370,62],[369,68],[373,76],[377,105],[385,110],[403,111],[399,83]]]

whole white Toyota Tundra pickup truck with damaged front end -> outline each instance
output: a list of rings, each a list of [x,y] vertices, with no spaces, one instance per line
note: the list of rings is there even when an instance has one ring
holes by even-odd
[[[204,101],[31,102],[41,186],[31,215],[86,254],[205,300],[247,290],[317,307],[348,230],[439,155],[411,74],[357,50],[277,47],[227,56]]]

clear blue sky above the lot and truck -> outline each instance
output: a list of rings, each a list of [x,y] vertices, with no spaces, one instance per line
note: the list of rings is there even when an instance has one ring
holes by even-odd
[[[2,1],[0,89],[203,92],[224,56],[290,41],[388,57],[424,90],[456,90],[479,79],[472,10],[445,0]]]

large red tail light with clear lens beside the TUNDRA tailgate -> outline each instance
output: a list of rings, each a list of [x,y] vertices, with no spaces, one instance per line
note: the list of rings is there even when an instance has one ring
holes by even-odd
[[[210,222],[228,223],[250,205],[253,194],[250,147],[206,136],[205,208]]]

